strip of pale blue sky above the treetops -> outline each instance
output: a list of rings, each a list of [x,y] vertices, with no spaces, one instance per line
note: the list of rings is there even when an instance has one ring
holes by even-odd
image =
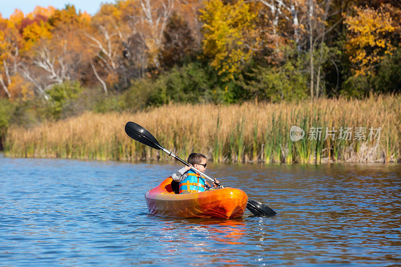
[[[94,15],[99,11],[101,3],[114,3],[114,0],[0,0],[0,13],[3,18],[9,18],[15,9],[28,14],[34,11],[36,6],[45,8],[52,6],[62,9],[66,4],[71,4],[81,12],[86,11],[90,15]]]

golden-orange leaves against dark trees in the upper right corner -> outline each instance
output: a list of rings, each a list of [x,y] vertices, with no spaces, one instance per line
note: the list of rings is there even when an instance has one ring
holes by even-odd
[[[353,10],[354,16],[345,16],[348,29],[345,51],[355,76],[374,75],[373,66],[395,49],[390,40],[395,28],[390,15],[382,7],[374,10],[354,6]]]

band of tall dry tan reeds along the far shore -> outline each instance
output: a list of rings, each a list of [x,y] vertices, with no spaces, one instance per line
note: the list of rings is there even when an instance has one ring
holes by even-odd
[[[300,103],[169,105],[138,113],[95,114],[31,129],[11,127],[5,154],[97,160],[167,160],[162,152],[131,140],[127,121],[148,129],[181,158],[197,151],[219,162],[396,162],[401,142],[401,97],[364,100],[320,99]],[[297,125],[304,139],[292,142]],[[309,140],[311,127],[323,127],[322,140]],[[324,139],[325,127],[381,127],[380,140]],[[338,132],[337,132],[338,134]],[[336,135],[337,137],[337,135]],[[354,139],[354,135],[352,135]]]

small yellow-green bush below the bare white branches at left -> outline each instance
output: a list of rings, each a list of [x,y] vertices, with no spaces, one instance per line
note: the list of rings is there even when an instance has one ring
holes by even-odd
[[[72,112],[71,105],[81,92],[82,88],[78,81],[67,81],[54,85],[47,91],[50,97],[49,103],[46,103],[47,115],[54,119],[60,119],[63,114]]]

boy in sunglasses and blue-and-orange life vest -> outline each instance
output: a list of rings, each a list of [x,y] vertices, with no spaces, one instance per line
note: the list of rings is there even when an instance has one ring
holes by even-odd
[[[204,154],[191,153],[188,156],[187,162],[189,165],[201,172],[206,171],[207,159]],[[191,170],[190,166],[185,166],[182,169],[177,170],[171,175],[171,178],[174,181],[179,182],[180,194],[204,192],[205,187],[210,187],[205,178]],[[219,183],[218,180],[215,179],[215,181]],[[217,187],[217,184],[213,183],[213,185],[214,187]]]

